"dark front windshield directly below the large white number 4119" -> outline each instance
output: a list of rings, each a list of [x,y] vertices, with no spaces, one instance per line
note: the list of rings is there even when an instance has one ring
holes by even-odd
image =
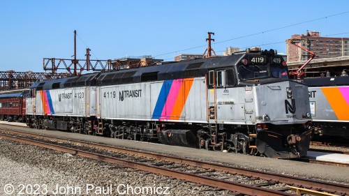
[[[242,65],[239,66],[239,75],[243,80],[254,80],[262,77],[269,77],[269,70],[266,65]]]

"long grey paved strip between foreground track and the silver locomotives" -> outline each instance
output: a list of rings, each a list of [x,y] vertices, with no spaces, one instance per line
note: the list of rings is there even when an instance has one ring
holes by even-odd
[[[164,153],[173,156],[181,156],[195,160],[205,160],[214,163],[222,163],[247,169],[256,169],[266,172],[277,172],[281,174],[304,176],[309,179],[321,179],[325,181],[334,181],[349,184],[349,167],[336,167],[332,165],[318,165],[313,163],[303,163],[291,160],[279,160],[274,158],[264,158],[257,156],[247,156],[236,153],[223,153],[221,151],[207,151],[204,149],[192,149],[181,146],[168,146],[163,144],[154,144],[148,142],[136,142],[130,140],[117,140],[109,137],[96,137],[92,135],[81,135],[77,133],[68,133],[57,130],[36,130],[27,127],[9,126],[0,124],[0,128],[9,128],[27,131],[30,133],[39,133],[56,137],[66,137],[68,140],[84,140],[101,144],[122,146],[129,149],[141,149],[156,153]],[[0,140],[1,142],[1,140]]]

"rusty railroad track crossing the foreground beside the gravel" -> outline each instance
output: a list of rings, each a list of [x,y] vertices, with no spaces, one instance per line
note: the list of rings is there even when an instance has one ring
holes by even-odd
[[[299,191],[305,189],[336,195],[349,195],[349,186],[338,183],[302,179],[283,174],[270,174],[199,160],[165,156],[158,153],[24,133],[17,130],[1,130],[1,132],[3,133],[0,134],[0,137],[9,140],[43,146],[47,149],[63,151],[76,156],[103,160],[107,163],[114,163],[124,167],[132,167],[155,174],[170,176],[171,178],[201,183],[202,185],[230,190],[233,193],[238,192],[244,195],[292,195],[290,186],[295,187]],[[27,139],[24,137],[32,138]],[[67,142],[69,143],[68,146],[65,145]],[[98,150],[91,152],[88,150],[91,148]],[[106,151],[108,152],[106,153]],[[118,154],[117,157],[115,157],[115,153]],[[239,179],[239,181],[235,181],[235,179]],[[272,189],[273,186],[280,183],[283,183],[283,188],[278,186],[279,188]]]

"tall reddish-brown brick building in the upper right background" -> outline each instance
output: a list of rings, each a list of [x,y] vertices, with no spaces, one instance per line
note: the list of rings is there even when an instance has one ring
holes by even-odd
[[[292,40],[297,40],[297,45],[315,53],[315,59],[349,56],[349,38],[321,37],[320,32],[307,31],[302,35],[292,35]],[[286,40],[286,53],[288,62],[306,61],[310,54]]]

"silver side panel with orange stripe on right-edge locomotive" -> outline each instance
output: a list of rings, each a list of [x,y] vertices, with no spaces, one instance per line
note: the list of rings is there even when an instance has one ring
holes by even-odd
[[[309,87],[313,121],[349,122],[349,86]]]

